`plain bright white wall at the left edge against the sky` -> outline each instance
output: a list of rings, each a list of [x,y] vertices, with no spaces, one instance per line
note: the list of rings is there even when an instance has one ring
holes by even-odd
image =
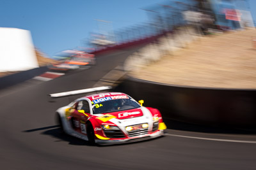
[[[38,67],[30,31],[0,27],[0,72]]]

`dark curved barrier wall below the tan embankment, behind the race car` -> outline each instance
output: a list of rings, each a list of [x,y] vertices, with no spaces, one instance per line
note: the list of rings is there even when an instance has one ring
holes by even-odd
[[[144,106],[157,108],[163,118],[200,125],[256,127],[255,89],[210,89],[168,85],[129,77],[115,89]]]

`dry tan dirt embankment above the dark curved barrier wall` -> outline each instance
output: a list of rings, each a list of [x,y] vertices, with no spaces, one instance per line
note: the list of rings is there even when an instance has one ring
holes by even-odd
[[[255,29],[205,36],[131,75],[173,85],[256,89],[253,38]]]

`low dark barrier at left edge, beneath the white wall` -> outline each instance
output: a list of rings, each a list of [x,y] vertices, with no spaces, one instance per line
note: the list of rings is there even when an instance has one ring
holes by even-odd
[[[4,76],[0,78],[0,89],[10,87],[17,83],[21,83],[23,81],[29,80],[35,76],[45,73],[48,71],[48,67],[37,67],[35,69],[29,69],[26,71],[21,71],[19,73],[10,74],[8,76]]]

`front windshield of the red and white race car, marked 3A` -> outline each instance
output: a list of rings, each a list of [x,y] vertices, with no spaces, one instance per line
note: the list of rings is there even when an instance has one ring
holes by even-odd
[[[140,104],[131,98],[102,101],[92,105],[93,114],[131,110],[134,108],[140,108]]]

